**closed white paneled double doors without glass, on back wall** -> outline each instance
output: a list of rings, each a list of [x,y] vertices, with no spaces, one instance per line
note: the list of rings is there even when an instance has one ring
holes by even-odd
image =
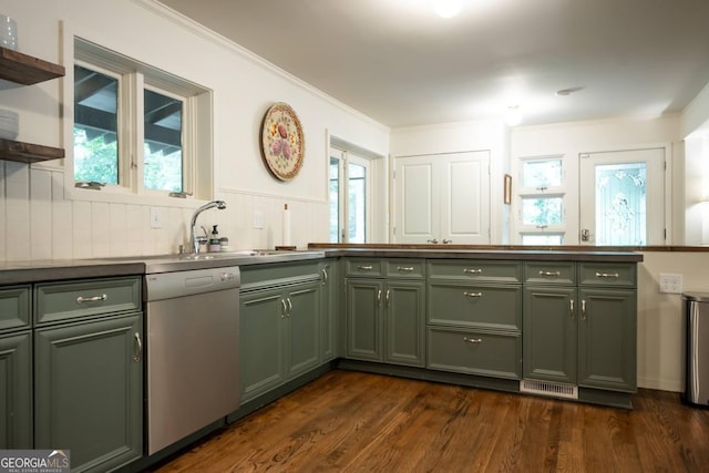
[[[490,243],[490,153],[394,160],[394,241]]]

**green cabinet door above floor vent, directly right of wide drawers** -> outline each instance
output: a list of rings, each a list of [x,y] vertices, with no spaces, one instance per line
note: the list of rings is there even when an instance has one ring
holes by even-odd
[[[575,287],[525,287],[522,343],[524,378],[576,383]]]

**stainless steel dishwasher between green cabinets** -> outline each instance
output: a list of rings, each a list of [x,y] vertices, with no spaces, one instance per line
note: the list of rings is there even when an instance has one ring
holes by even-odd
[[[150,271],[148,271],[150,273]],[[239,407],[239,268],[147,274],[147,453]]]

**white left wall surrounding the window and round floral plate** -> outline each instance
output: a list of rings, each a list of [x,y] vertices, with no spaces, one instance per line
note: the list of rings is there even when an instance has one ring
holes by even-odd
[[[302,83],[240,47],[153,0],[6,0],[16,19],[19,51],[71,68],[62,58],[64,30],[214,91],[215,198],[201,225],[219,224],[234,248],[281,244],[281,210],[292,213],[292,241],[327,241],[328,131],[387,155],[389,130]],[[68,35],[69,35],[68,34]],[[20,113],[19,141],[66,147],[62,135],[62,80],[32,86],[0,81],[0,107]],[[274,102],[298,113],[306,137],[300,174],[282,183],[268,173],[259,152],[259,127]],[[69,140],[68,140],[69,141]],[[163,227],[151,229],[145,202],[64,199],[63,160],[32,165],[0,161],[0,260],[63,259],[171,253],[187,240],[193,209],[163,205]],[[105,200],[105,199],[104,199]],[[264,228],[253,228],[254,213]]]

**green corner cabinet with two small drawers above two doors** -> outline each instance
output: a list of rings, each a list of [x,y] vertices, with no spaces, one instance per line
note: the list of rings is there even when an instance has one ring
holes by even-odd
[[[350,258],[347,358],[425,366],[423,260]]]

